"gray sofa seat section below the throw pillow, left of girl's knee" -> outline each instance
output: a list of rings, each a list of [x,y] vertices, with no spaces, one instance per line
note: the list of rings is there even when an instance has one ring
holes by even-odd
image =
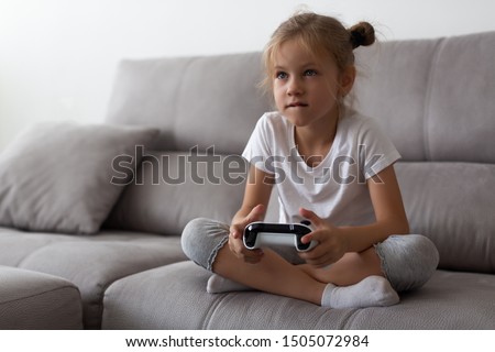
[[[185,258],[179,237],[123,231],[74,237],[0,228],[0,265],[56,275],[74,283],[85,327],[98,329],[105,289],[114,280]]]

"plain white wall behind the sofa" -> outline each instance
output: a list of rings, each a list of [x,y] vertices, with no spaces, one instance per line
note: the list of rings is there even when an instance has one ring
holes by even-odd
[[[0,151],[37,120],[102,121],[123,57],[260,51],[302,2],[382,40],[495,30],[493,0],[0,0]]]

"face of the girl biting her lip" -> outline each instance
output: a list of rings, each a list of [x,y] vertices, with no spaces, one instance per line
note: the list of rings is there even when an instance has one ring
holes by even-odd
[[[338,118],[341,75],[332,59],[318,59],[296,41],[274,55],[273,92],[278,111],[296,127]]]

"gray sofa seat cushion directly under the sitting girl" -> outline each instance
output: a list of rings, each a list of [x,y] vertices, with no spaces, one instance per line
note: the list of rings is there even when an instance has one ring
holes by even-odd
[[[209,275],[193,262],[182,262],[120,279],[105,295],[102,327],[287,330],[495,328],[495,275],[438,271],[424,288],[403,295],[399,305],[365,309],[329,309],[258,292],[210,295],[206,292]]]

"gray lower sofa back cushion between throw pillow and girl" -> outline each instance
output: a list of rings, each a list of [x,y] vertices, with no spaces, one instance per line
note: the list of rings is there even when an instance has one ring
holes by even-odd
[[[242,202],[246,170],[239,155],[146,152],[105,226],[179,235],[195,218],[229,223]]]

